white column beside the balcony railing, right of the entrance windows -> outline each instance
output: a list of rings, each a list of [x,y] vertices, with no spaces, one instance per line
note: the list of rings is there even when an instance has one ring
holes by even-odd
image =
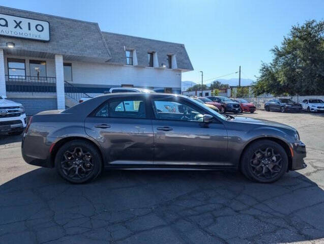
[[[55,54],[57,109],[65,109],[63,56]]]

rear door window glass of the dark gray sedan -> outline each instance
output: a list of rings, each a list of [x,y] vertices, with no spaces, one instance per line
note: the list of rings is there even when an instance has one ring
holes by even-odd
[[[117,99],[105,103],[95,114],[96,117],[146,118],[145,101]]]

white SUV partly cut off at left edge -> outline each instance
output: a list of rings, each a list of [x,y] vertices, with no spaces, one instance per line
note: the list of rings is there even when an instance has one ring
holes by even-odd
[[[26,128],[25,109],[0,95],[0,134],[20,135]]]

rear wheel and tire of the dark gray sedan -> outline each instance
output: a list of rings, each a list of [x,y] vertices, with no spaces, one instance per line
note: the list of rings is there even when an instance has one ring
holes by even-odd
[[[102,171],[100,151],[87,141],[69,141],[58,149],[55,168],[62,178],[73,184],[89,182]]]

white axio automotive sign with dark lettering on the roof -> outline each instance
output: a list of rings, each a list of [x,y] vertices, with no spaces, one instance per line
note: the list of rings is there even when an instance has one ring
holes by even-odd
[[[49,41],[49,22],[0,14],[0,35]]]

